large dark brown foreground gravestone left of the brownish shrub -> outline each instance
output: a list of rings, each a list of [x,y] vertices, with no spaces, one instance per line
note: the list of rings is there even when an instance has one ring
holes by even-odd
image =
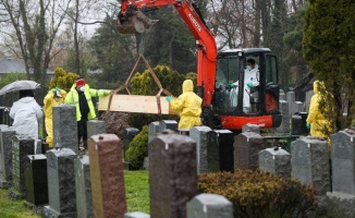
[[[197,195],[196,143],[175,133],[149,143],[150,216],[186,218],[186,203]]]

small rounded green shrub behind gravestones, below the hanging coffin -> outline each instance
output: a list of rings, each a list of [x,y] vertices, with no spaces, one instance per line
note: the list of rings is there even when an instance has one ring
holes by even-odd
[[[128,149],[125,152],[127,161],[136,168],[143,167],[144,158],[148,156],[148,125],[132,140]]]

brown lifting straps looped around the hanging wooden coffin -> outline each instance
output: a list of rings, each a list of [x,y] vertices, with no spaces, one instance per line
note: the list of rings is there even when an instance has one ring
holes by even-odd
[[[139,57],[138,57],[136,63],[134,64],[134,66],[133,66],[132,71],[131,71],[131,73],[130,73],[127,80],[125,81],[125,83],[124,83],[121,87],[114,89],[114,90],[110,94],[109,105],[108,105],[107,111],[110,111],[110,109],[111,109],[112,96],[115,95],[117,93],[119,93],[120,90],[125,89],[125,90],[128,93],[128,95],[132,95],[131,92],[130,92],[130,89],[128,89],[128,83],[130,83],[130,81],[131,81],[131,77],[132,77],[134,71],[136,70],[136,68],[137,68],[139,61],[140,61],[140,59],[144,61],[145,65],[148,68],[149,73],[151,74],[154,81],[156,82],[156,84],[157,84],[158,87],[159,87],[159,92],[158,92],[158,94],[156,95],[156,97],[157,97],[158,114],[161,113],[161,104],[160,104],[160,95],[161,95],[161,93],[166,94],[167,96],[172,96],[172,94],[171,94],[169,90],[164,89],[164,88],[161,86],[161,83],[160,83],[159,78],[157,77],[156,73],[152,71],[152,69],[150,68],[148,61],[144,58],[143,55],[139,55]]]

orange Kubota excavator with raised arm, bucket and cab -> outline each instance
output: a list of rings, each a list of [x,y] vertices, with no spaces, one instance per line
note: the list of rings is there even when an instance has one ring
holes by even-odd
[[[268,48],[218,51],[216,37],[191,0],[121,0],[117,27],[122,34],[142,34],[157,22],[145,11],[173,5],[197,45],[197,87],[203,98],[203,122],[212,129],[240,131],[245,124],[281,124],[277,58]],[[254,76],[246,75],[247,62]],[[247,86],[252,80],[253,86]],[[254,81],[253,81],[254,80]]]

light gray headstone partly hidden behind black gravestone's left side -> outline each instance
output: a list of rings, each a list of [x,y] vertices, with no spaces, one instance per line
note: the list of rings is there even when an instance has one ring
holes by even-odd
[[[189,137],[196,142],[197,173],[208,172],[207,166],[207,142],[208,126],[194,126],[189,131]]]

